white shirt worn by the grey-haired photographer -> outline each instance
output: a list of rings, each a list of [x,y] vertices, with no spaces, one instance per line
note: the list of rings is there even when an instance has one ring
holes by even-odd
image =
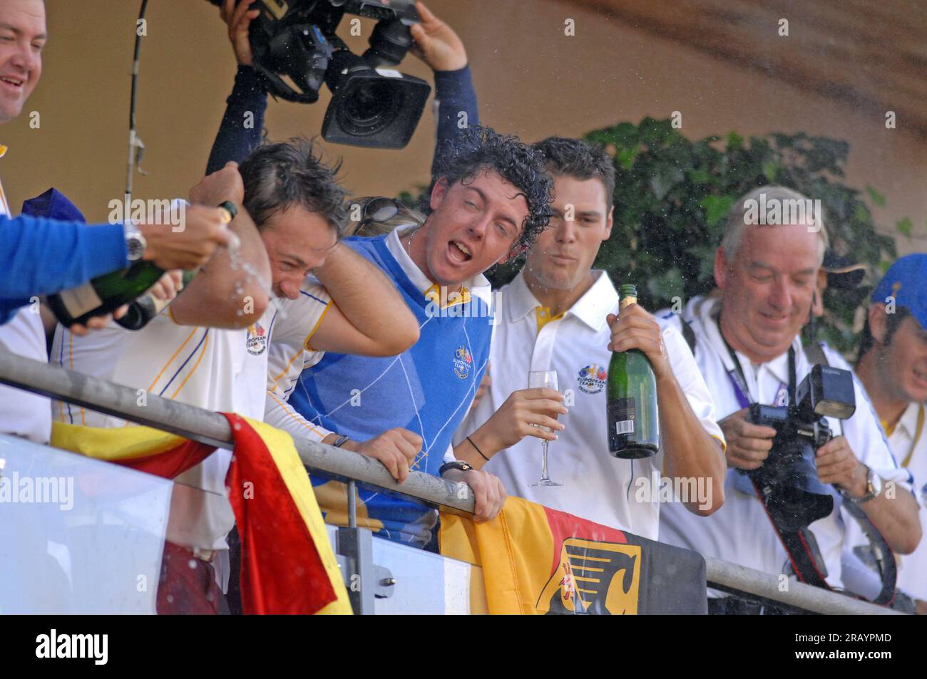
[[[727,347],[717,327],[713,311],[717,299],[695,297],[683,310],[683,318],[692,326],[695,335],[695,360],[705,376],[705,382],[715,398],[717,415],[723,420],[730,413],[742,409],[728,371],[733,370]],[[668,311],[661,316],[680,327],[677,314]],[[794,340],[795,373],[798,382],[811,370],[805,356],[801,338]],[[849,370],[838,354],[825,347],[825,355],[834,368]],[[787,397],[788,353],[767,363],[752,366],[750,359],[737,353],[752,400],[775,404]],[[908,485],[908,473],[895,465],[883,436],[882,427],[875,417],[869,398],[854,376],[857,409],[846,421],[828,418],[834,435],[843,434],[857,459],[868,465],[886,481]],[[769,522],[766,510],[756,495],[747,495],[734,486],[740,472],[728,470],[724,488],[724,504],[708,517],[696,517],[678,505],[667,505],[663,512],[660,538],[664,542],[686,547],[703,555],[739,563],[769,573],[790,572],[788,557]],[[843,586],[841,550],[844,546],[844,526],[855,520],[842,509],[839,496],[834,496],[832,513],[810,526],[818,540],[821,556],[828,571],[827,582]]]

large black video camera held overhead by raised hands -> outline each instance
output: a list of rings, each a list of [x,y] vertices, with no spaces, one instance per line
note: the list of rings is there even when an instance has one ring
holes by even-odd
[[[399,65],[413,43],[409,27],[419,20],[413,0],[238,1],[260,9],[249,39],[254,69],[269,93],[314,104],[323,83],[332,91],[325,141],[373,148],[409,143],[431,86],[385,67]],[[377,20],[370,49],[360,57],[335,32],[345,14]]]

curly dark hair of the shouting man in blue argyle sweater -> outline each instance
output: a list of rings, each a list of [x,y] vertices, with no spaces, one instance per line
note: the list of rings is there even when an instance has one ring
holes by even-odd
[[[528,216],[512,249],[532,245],[551,220],[553,180],[544,170],[540,153],[518,137],[488,127],[464,129],[438,147],[431,187],[441,179],[447,180],[449,188],[456,182],[470,182],[485,170],[497,172],[525,196]],[[431,211],[427,205],[423,207],[426,213]]]

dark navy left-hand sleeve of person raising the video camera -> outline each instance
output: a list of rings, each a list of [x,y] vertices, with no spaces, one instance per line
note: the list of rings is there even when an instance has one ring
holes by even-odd
[[[238,67],[235,86],[225,104],[225,115],[206,166],[207,174],[222,170],[230,160],[241,163],[251,151],[260,146],[267,93],[261,87],[255,69],[250,66]]]

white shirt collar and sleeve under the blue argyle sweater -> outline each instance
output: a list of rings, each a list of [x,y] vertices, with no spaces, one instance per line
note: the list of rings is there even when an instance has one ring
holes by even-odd
[[[422,291],[422,295],[438,295],[438,285],[432,283],[425,273],[418,268],[413,259],[409,257],[406,248],[402,245],[405,238],[419,225],[399,226],[387,234],[386,245],[400,268],[409,277],[409,280]],[[388,275],[388,274],[387,274]],[[477,273],[462,283],[464,289],[470,294],[483,300],[488,307],[492,305],[492,287],[489,280],[482,273]],[[280,322],[280,321],[278,321]],[[493,328],[495,332],[495,328]],[[288,334],[288,333],[287,333]],[[274,427],[288,432],[295,438],[309,438],[312,441],[321,441],[331,431],[318,423],[306,420],[296,409],[287,402],[293,390],[298,388],[299,376],[302,371],[318,363],[324,357],[324,351],[311,348],[309,343],[286,341],[283,333],[274,333],[271,343],[270,365],[267,379],[267,402],[264,421]],[[444,453],[444,460],[450,461],[453,457],[453,446],[448,446]]]

